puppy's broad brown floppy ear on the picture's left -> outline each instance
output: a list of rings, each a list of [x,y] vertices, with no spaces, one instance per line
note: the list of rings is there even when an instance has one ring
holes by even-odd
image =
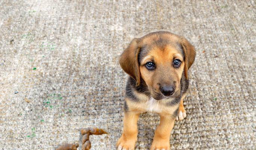
[[[136,81],[136,86],[140,84],[141,78],[138,62],[138,54],[140,51],[138,42],[139,39],[133,39],[129,46],[124,50],[123,54],[121,54],[119,59],[121,68]]]

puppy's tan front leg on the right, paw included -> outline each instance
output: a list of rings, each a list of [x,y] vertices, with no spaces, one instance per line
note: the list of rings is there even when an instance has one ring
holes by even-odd
[[[170,135],[175,118],[171,114],[160,114],[160,124],[156,128],[150,150],[170,150]]]

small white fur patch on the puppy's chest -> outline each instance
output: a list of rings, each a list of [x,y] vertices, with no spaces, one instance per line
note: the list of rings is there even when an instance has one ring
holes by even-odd
[[[150,98],[148,101],[145,103],[145,107],[147,111],[152,111],[156,113],[161,113],[163,111],[164,106],[161,104],[160,101]]]

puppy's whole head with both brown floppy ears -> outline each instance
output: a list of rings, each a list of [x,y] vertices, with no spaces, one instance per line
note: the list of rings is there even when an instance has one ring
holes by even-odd
[[[180,95],[182,74],[188,79],[188,69],[195,59],[195,49],[184,37],[166,31],[135,38],[120,57],[120,65],[135,81],[144,80],[155,99]]]

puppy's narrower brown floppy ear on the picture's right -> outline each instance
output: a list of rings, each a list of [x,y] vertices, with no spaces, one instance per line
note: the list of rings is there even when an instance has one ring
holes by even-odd
[[[185,67],[184,67],[185,72],[184,73],[185,73],[186,79],[188,80],[188,69],[194,63],[194,60],[195,60],[195,48],[184,37],[182,38],[181,45],[185,54]]]

